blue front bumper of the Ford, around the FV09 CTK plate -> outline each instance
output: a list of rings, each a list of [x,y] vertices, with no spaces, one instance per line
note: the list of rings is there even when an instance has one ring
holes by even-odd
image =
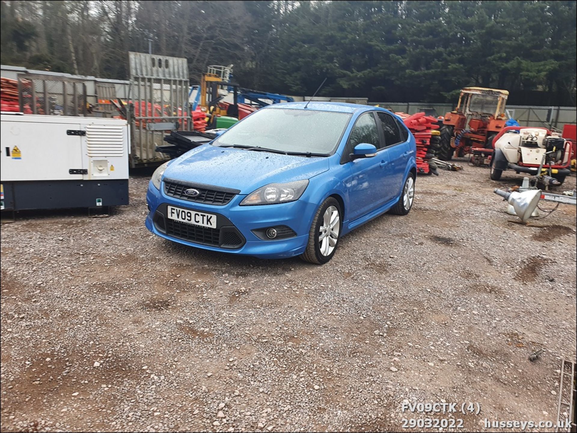
[[[246,195],[241,194],[236,195],[224,206],[206,205],[168,197],[162,192],[163,189],[164,182],[161,185],[161,191],[156,189],[152,183],[148,184],[149,213],[145,224],[153,234],[204,250],[252,255],[258,258],[286,258],[302,254],[308,243],[310,224],[317,209],[316,205],[301,200],[276,205],[239,206],[242,199],[246,197]],[[167,230],[167,205],[216,214],[217,228],[212,231],[203,231],[201,236],[195,238],[197,239],[195,242],[190,242],[185,238],[190,235],[188,231],[196,230],[196,226],[181,226],[186,231],[185,235],[182,234],[181,230],[175,232],[173,227]],[[171,224],[170,221],[168,224]],[[252,232],[254,229],[278,225],[290,227],[296,236],[286,239],[262,240]],[[205,233],[207,234],[205,235]],[[233,242],[228,240],[231,238],[235,240]],[[218,245],[211,244],[211,242],[218,243]]]

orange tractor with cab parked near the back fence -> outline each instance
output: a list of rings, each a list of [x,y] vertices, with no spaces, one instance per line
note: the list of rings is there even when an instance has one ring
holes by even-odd
[[[455,111],[445,114],[437,156],[448,161],[471,154],[476,165],[488,163],[493,153],[493,138],[505,127],[506,90],[466,87]]]

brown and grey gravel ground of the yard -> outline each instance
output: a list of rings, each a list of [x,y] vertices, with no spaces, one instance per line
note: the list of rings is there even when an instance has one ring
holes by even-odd
[[[479,402],[453,415],[462,431],[554,420],[576,212],[509,223],[492,189],[520,179],[419,177],[408,216],[355,230],[324,266],[151,235],[144,175],[109,218],[21,213],[2,225],[1,430],[399,431],[426,416],[403,401]]]

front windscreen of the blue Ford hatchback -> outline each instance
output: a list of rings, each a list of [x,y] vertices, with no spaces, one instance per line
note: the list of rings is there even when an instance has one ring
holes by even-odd
[[[213,145],[332,153],[349,119],[350,114],[332,111],[264,108],[220,135]]]

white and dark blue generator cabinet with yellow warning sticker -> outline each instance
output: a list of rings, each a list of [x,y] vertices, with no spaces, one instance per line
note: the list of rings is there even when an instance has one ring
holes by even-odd
[[[126,120],[1,116],[1,209],[128,205]]]

